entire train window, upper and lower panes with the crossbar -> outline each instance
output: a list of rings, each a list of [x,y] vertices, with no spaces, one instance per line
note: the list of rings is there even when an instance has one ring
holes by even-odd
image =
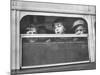
[[[22,66],[88,61],[88,24],[77,17],[26,15],[20,20]]]

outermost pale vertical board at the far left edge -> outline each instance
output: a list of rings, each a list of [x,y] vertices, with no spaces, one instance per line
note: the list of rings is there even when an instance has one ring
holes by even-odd
[[[11,11],[11,69],[15,69],[16,65],[16,46],[15,46],[15,13],[16,11]]]

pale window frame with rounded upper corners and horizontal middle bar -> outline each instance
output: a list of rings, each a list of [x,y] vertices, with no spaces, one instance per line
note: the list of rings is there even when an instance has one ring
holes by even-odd
[[[23,16],[25,15],[44,15],[44,16],[61,16],[61,17],[81,17],[83,19],[85,19],[88,23],[88,35],[87,34],[82,34],[82,35],[76,35],[76,34],[35,34],[34,35],[27,35],[27,34],[21,34],[20,35],[20,20]],[[16,22],[16,34],[17,34],[17,48],[18,48],[18,53],[17,53],[17,60],[18,60],[18,63],[17,63],[17,66],[20,67],[20,68],[29,68],[29,67],[22,67],[22,39],[21,38],[26,38],[26,37],[88,37],[88,51],[89,51],[89,61],[86,61],[87,62],[94,62],[95,61],[95,55],[94,55],[94,47],[93,46],[95,40],[92,40],[92,39],[95,39],[94,38],[94,33],[92,33],[92,30],[94,30],[94,28],[92,27],[93,23],[91,21],[91,16],[90,15],[81,15],[81,14],[63,14],[63,13],[47,13],[47,12],[34,12],[34,11],[17,11],[17,14],[16,14],[17,18],[17,22]],[[92,18],[94,19],[94,18]],[[47,36],[48,35],[48,36]],[[21,37],[21,38],[20,38]],[[93,47],[92,47],[93,46]],[[93,48],[93,49],[92,49]],[[72,64],[78,64],[78,63],[85,63],[85,61],[83,62],[76,62],[76,63],[72,63]],[[71,64],[71,63],[70,63]],[[59,65],[59,64],[58,64]],[[60,64],[62,65],[62,64]],[[64,63],[65,65],[65,63]],[[66,64],[67,65],[67,64]],[[47,65],[49,66],[49,65]],[[47,67],[46,65],[44,66],[39,66],[39,67]],[[51,66],[56,66],[55,64],[51,65]],[[38,66],[33,66],[32,68],[36,68]]]

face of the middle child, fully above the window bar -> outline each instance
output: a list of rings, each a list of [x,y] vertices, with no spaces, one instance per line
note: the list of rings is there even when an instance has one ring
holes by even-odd
[[[64,26],[62,23],[58,22],[54,24],[54,31],[56,34],[62,34],[64,33]]]

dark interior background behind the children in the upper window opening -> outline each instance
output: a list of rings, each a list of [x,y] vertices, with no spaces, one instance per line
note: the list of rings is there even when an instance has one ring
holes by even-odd
[[[72,25],[75,20],[84,20],[82,18],[73,18],[73,17],[55,17],[55,16],[37,16],[37,15],[26,15],[24,16],[20,21],[20,33],[25,34],[26,28],[30,24],[34,24],[37,30],[41,30],[40,27],[45,27],[46,32],[45,34],[54,34],[53,32],[53,23],[56,20],[62,21],[64,24],[64,27],[66,28],[65,33],[73,33]],[[85,20],[84,20],[85,21]],[[85,21],[86,22],[86,21]],[[87,25],[87,22],[86,22]]]

